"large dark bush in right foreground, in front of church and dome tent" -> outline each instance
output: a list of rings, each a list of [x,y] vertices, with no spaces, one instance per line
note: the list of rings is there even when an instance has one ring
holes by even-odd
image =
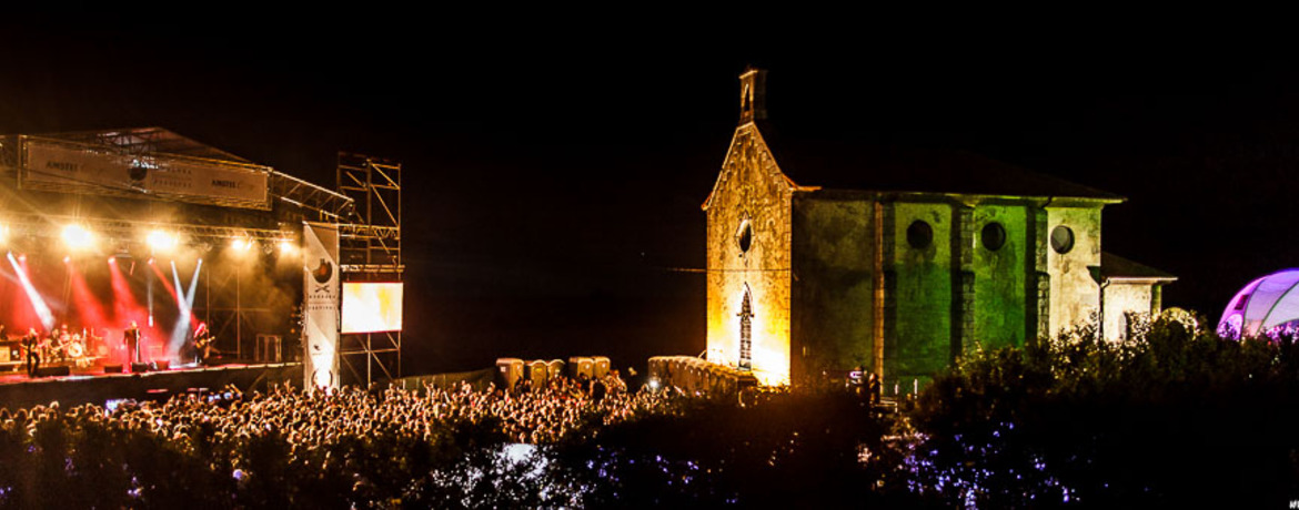
[[[1280,506],[1299,496],[1296,362],[1293,341],[1176,321],[977,352],[922,392],[914,475],[963,505]]]

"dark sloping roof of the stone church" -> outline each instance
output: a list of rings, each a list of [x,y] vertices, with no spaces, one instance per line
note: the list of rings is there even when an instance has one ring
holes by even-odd
[[[759,131],[781,170],[799,186],[822,189],[1074,197],[1124,197],[1030,171],[966,151],[876,140],[791,140],[768,122]]]

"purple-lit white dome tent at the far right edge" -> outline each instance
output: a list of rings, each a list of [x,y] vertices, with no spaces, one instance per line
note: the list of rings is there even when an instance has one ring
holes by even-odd
[[[1218,335],[1250,337],[1299,322],[1299,269],[1287,269],[1250,282],[1235,293],[1218,321]]]

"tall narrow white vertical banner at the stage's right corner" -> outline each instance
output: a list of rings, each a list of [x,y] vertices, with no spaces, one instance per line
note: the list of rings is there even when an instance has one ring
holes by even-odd
[[[338,226],[303,222],[304,387],[339,387]]]

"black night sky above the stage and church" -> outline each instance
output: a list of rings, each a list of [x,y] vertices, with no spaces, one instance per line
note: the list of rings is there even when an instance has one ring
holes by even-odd
[[[1104,248],[1179,275],[1167,305],[1216,321],[1299,266],[1299,66],[1224,48],[383,17],[0,29],[0,132],[164,126],[323,186],[340,149],[404,162],[408,374],[701,350],[703,276],[668,269],[704,263],[747,64],[770,69],[786,136],[964,148],[1129,197]]]

